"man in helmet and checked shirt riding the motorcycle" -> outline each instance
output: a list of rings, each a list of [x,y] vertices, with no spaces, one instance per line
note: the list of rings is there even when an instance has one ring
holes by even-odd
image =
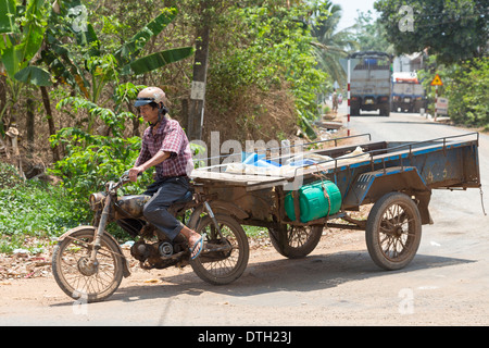
[[[142,136],[141,151],[129,170],[129,179],[136,182],[140,173],[155,167],[155,181],[145,192],[152,196],[145,206],[145,217],[171,240],[181,233],[195,259],[202,251],[202,237],[167,211],[173,202],[188,192],[188,175],[193,162],[188,138],[179,123],[166,116],[168,109],[165,103],[166,96],[161,88],[148,87],[138,94],[135,107],[150,126]]]

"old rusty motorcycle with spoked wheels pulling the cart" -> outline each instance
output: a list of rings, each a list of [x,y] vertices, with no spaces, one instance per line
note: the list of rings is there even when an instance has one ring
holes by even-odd
[[[120,244],[105,231],[111,222],[136,236],[130,256],[139,261],[141,269],[190,264],[201,279],[213,285],[229,284],[241,276],[249,259],[247,235],[230,215],[214,214],[210,204],[212,197],[190,189],[168,209],[203,236],[203,249],[192,260],[187,239],[181,234],[170,240],[145,220],[142,210],[151,196],[117,195],[127,182],[129,176],[125,172],[118,182],[106,183],[104,191],[90,195],[90,208],[95,212],[92,226],[75,227],[58,239],[52,272],[67,296],[87,302],[103,301],[115,293],[123,277],[130,275],[129,263]]]

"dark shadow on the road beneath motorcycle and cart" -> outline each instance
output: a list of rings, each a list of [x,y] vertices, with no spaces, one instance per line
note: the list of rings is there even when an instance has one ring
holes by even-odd
[[[204,283],[192,272],[163,276],[162,279],[166,284],[158,286],[145,286],[145,284],[124,286],[109,301],[171,298],[181,294],[199,296],[202,293],[249,297],[284,290],[314,291],[353,281],[385,277],[393,274],[471,262],[475,261],[417,254],[404,270],[383,271],[373,263],[367,251],[344,251],[327,256],[312,256],[301,260],[280,259],[252,263],[239,279],[224,286],[213,286]]]

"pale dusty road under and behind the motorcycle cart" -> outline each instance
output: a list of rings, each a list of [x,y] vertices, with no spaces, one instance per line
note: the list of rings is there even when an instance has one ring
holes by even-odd
[[[387,140],[461,133],[397,113],[354,117],[352,127]],[[479,151],[489,210],[487,136]],[[86,304],[52,276],[4,281],[0,325],[488,325],[489,216],[479,191],[435,191],[429,207],[435,224],[423,226],[417,256],[401,271],[372,262],[363,232],[325,229],[305,259],[252,249],[244,274],[227,286],[208,285],[190,269],[140,271],[108,301]]]

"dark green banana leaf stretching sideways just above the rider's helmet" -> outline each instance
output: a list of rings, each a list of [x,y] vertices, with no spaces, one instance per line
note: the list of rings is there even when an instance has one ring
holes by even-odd
[[[162,67],[170,63],[178,62],[183,59],[186,59],[193,54],[193,47],[181,47],[175,48],[171,50],[155,52],[140,59],[135,60],[129,63],[129,67],[134,74],[140,75],[159,67]],[[127,65],[126,65],[127,66]],[[124,66],[124,67],[126,67]],[[127,72],[126,69],[123,69],[124,72]]]

